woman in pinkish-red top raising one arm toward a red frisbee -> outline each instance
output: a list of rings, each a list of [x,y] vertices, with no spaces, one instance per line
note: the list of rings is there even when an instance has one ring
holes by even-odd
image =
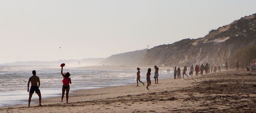
[[[72,84],[71,83],[71,79],[69,78],[70,77],[70,73],[67,72],[67,73],[63,74],[63,67],[61,67],[61,75],[63,76],[63,80],[62,80],[63,86],[62,86],[61,102],[62,102],[62,100],[64,98],[64,94],[65,94],[65,91],[66,91],[66,99],[67,99],[67,104],[68,104],[68,93],[69,93],[69,90],[70,90],[69,84]]]

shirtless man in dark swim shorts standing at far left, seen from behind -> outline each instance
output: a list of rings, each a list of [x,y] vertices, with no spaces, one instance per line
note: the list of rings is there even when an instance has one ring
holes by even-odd
[[[36,72],[35,70],[32,71],[32,74],[33,76],[31,76],[29,78],[29,82],[28,82],[28,92],[29,92],[29,107],[30,107],[30,101],[31,101],[31,98],[32,98],[32,95],[33,93],[37,93],[38,96],[39,96],[39,106],[42,106],[41,105],[41,92],[39,90],[39,87],[40,87],[40,80],[39,80],[39,77],[36,76]],[[31,87],[30,87],[30,90],[29,90],[29,83],[31,82]]]

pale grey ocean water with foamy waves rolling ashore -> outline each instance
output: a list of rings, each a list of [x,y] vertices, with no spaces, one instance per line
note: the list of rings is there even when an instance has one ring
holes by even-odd
[[[153,68],[152,68],[153,69]],[[10,106],[16,104],[27,104],[29,93],[27,83],[32,70],[36,70],[40,78],[40,90],[42,98],[61,97],[62,75],[60,67],[43,66],[0,66],[0,106]],[[134,83],[137,78],[137,70],[127,68],[99,69],[87,67],[65,67],[64,72],[71,73],[70,92],[81,89],[102,88]],[[141,70],[141,81],[146,81],[146,69]],[[153,80],[154,70],[151,72]],[[173,74],[161,71],[159,79],[172,78]],[[31,86],[31,84],[30,84]],[[29,86],[29,89],[30,89]],[[33,94],[32,99],[38,99],[37,94]]]

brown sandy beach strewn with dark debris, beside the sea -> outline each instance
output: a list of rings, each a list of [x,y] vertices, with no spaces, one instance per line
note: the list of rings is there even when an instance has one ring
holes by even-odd
[[[1,113],[253,113],[256,112],[256,73],[217,72],[184,79],[164,79],[146,90],[143,84],[78,90],[69,104],[59,98],[27,105],[1,107]],[[144,82],[145,80],[143,80]],[[36,96],[36,95],[34,95]],[[65,101],[65,99],[64,99]]]

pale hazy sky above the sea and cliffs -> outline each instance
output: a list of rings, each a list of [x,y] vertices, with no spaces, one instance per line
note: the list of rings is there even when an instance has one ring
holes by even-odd
[[[0,0],[0,63],[105,58],[200,38],[256,0]],[[61,47],[61,49],[59,48]]]

